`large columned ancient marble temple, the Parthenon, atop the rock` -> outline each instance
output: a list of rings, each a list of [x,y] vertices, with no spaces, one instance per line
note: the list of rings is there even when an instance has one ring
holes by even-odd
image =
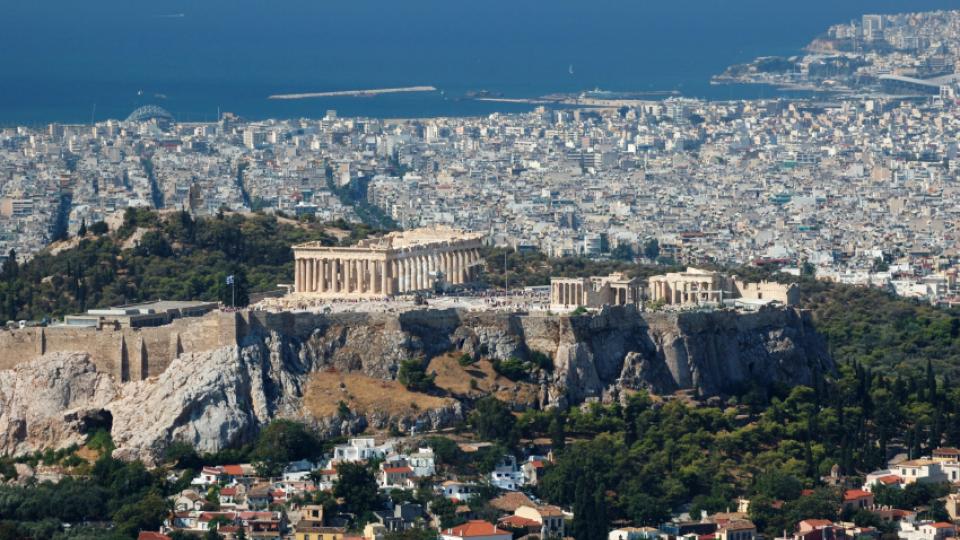
[[[482,234],[449,227],[394,232],[351,247],[293,247],[294,292],[330,298],[382,298],[472,281]]]

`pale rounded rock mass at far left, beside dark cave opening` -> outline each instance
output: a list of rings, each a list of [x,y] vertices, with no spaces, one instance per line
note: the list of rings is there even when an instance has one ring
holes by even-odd
[[[0,454],[82,444],[109,427],[103,407],[116,397],[113,377],[84,353],[52,353],[0,371]]]

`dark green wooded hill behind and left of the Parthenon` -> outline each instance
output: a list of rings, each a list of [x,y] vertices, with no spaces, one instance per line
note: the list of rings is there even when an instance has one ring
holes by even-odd
[[[225,278],[231,274],[242,305],[250,292],[292,282],[291,245],[312,240],[335,245],[331,231],[351,243],[370,232],[362,225],[335,225],[130,209],[115,231],[98,223],[72,248],[42,252],[19,267],[7,265],[0,274],[0,319],[52,318],[157,298],[229,302]]]

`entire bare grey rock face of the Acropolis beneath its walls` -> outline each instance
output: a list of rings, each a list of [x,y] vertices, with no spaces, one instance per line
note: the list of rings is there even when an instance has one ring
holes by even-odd
[[[118,385],[84,354],[47,355],[0,371],[0,452],[81,442],[84,433],[111,420],[116,454],[146,461],[173,441],[203,452],[249,441],[277,417],[311,422],[328,436],[392,426],[439,429],[461,421],[464,405],[445,400],[433,409],[315,418],[306,412],[304,395],[311,374],[393,379],[402,360],[449,352],[499,360],[547,354],[553,369],[537,381],[537,405],[543,407],[625,389],[683,389],[708,397],[754,383],[813,385],[833,370],[823,339],[795,310],[611,308],[580,317],[429,309],[250,312],[241,321],[235,346],[181,354],[145,381]]]

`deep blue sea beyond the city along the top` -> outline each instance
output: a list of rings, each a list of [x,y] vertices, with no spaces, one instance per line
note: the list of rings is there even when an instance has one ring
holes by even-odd
[[[735,62],[793,54],[863,13],[957,0],[0,0],[0,124],[477,115],[529,107],[455,99],[602,88],[769,97],[711,86]],[[573,74],[570,73],[573,66]],[[298,101],[275,93],[433,85],[443,93]]]

